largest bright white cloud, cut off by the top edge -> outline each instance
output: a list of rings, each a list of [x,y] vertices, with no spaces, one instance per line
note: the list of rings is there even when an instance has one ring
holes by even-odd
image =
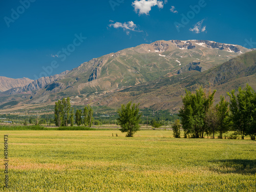
[[[167,1],[157,1],[157,0],[136,0],[133,2],[132,6],[134,7],[135,12],[137,13],[139,10],[139,15],[148,14],[151,11],[151,8],[154,6],[158,6],[160,9],[163,8],[163,4],[167,3]]]

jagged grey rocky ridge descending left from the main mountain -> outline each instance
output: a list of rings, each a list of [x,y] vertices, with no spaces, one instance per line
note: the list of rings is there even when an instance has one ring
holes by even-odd
[[[63,78],[66,74],[68,74],[69,71],[62,72],[60,74],[56,74],[50,77],[41,77],[37,80],[32,81],[31,83],[27,84],[24,87],[19,87],[15,89],[9,90],[9,94],[16,94],[16,93],[22,93],[22,92],[28,92],[28,91],[35,91],[38,89],[45,88],[48,84],[51,84],[52,82],[55,82],[57,80],[60,80]]]

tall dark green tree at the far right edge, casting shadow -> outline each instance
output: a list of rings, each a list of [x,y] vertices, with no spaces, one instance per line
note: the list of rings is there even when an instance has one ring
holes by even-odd
[[[247,84],[246,88],[238,89],[238,94],[235,95],[235,90],[228,93],[230,97],[230,112],[234,131],[237,131],[242,139],[250,134],[253,126],[253,112],[255,105],[253,103],[255,92]]]

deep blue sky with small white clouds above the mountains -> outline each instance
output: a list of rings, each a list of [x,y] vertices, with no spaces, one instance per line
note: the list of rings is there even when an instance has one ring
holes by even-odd
[[[36,79],[156,40],[256,48],[255,1],[0,2],[0,76]]]

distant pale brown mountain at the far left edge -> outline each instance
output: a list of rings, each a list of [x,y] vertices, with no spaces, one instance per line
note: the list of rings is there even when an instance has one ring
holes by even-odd
[[[21,79],[12,79],[8,77],[0,77],[0,92],[7,91],[12,88],[19,88],[26,86],[27,84],[33,82],[33,80],[29,78],[21,78]]]

